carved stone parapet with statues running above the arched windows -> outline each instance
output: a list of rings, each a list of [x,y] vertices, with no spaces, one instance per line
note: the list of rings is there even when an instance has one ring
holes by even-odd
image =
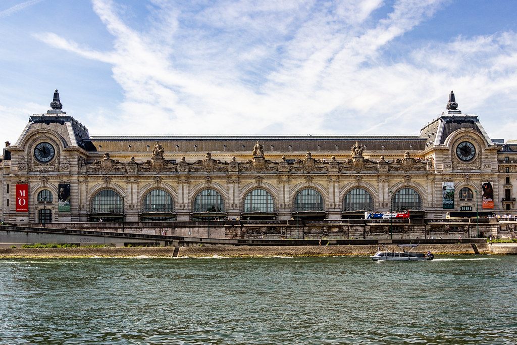
[[[254,148],[254,155],[251,159],[246,162],[239,163],[236,158],[233,157],[230,162],[221,161],[219,159],[212,158],[211,153],[207,152],[204,159],[198,159],[194,162],[187,162],[185,157],[182,157],[179,162],[174,160],[166,160],[163,158],[164,152],[163,147],[159,143],[155,145],[153,154],[150,159],[144,162],[135,161],[134,157],[131,157],[128,162],[119,162],[116,159],[112,159],[109,153],[105,153],[102,159],[95,160],[88,164],[83,158],[78,158],[78,170],[87,173],[238,173],[238,172],[254,172],[254,173],[265,173],[265,172],[303,172],[303,173],[327,173],[327,172],[340,172],[340,173],[360,173],[366,171],[372,172],[389,172],[389,171],[402,171],[405,173],[413,171],[427,171],[432,168],[432,159],[422,159],[419,157],[411,157],[409,152],[406,152],[404,157],[394,158],[392,160],[386,160],[384,156],[381,156],[378,161],[370,160],[369,158],[363,157],[363,146],[357,143],[358,147],[355,148],[355,155],[351,158],[345,159],[339,162],[335,156],[332,156],[329,161],[325,158],[316,159],[312,157],[311,152],[307,152],[304,158],[296,159],[294,162],[288,162],[285,157],[278,162],[271,161],[263,157],[263,148],[260,143]],[[256,145],[255,145],[256,146]],[[354,145],[355,146],[355,145]],[[23,162],[23,159],[21,160]],[[479,159],[476,158],[476,164],[479,164]],[[490,163],[490,162],[489,162]],[[34,164],[34,163],[33,163]],[[460,164],[458,161],[446,161],[444,162],[444,170],[450,170],[454,166],[458,166],[459,169],[472,169],[472,163]],[[22,165],[22,164],[19,164]],[[48,164],[47,164],[48,165]],[[49,167],[52,167],[50,165]],[[49,169],[47,167],[47,169]],[[68,167],[68,168],[67,168]],[[61,170],[69,170],[70,163],[67,159],[64,159]],[[490,169],[490,168],[487,168]]]

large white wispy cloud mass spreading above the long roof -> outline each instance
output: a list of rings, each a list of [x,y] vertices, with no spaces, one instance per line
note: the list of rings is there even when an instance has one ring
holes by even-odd
[[[139,31],[123,7],[93,1],[114,37],[111,51],[54,33],[37,36],[112,65],[125,100],[104,125],[111,133],[416,133],[437,100],[445,106],[450,89],[461,89],[460,106],[471,107],[500,92],[517,94],[512,32],[390,54],[390,43],[431,18],[443,0],[149,6],[148,26]]]

